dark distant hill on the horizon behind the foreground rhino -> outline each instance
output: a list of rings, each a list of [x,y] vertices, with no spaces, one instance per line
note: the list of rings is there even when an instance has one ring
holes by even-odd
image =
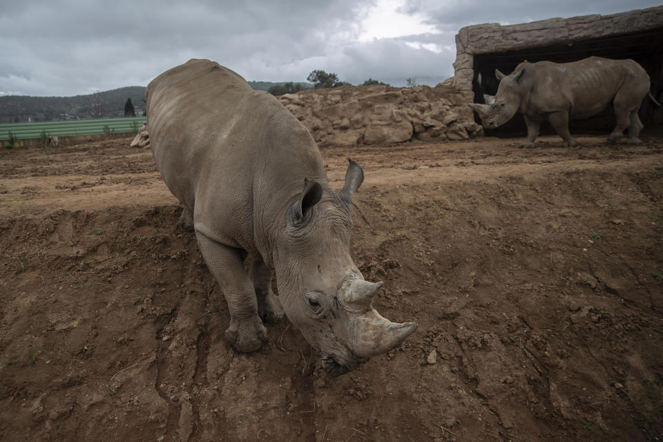
[[[269,90],[282,83],[249,81],[255,90]],[[309,83],[301,83],[310,88]],[[75,97],[30,97],[6,95],[0,97],[0,123],[55,122],[66,119],[124,117],[124,104],[131,98],[136,115],[145,115],[145,87],[128,86]]]

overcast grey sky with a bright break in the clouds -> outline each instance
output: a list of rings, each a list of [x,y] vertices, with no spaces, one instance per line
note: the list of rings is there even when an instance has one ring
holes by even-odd
[[[434,86],[453,75],[454,36],[478,23],[611,14],[661,0],[0,0],[0,95],[146,86],[191,58],[254,81],[314,69]]]

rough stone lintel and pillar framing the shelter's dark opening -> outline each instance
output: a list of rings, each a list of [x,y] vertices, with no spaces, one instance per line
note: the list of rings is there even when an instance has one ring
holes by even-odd
[[[552,44],[572,46],[576,41],[625,35],[663,28],[663,6],[612,15],[584,15],[548,19],[512,26],[485,23],[466,26],[456,35],[454,88],[472,90],[474,55],[536,48]]]

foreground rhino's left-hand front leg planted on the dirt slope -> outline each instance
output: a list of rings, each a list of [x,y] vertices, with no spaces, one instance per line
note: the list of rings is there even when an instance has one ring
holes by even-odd
[[[256,291],[249,273],[244,270],[241,251],[211,240],[199,231],[195,237],[207,268],[228,302],[230,325],[226,342],[239,352],[255,352],[267,342],[267,329],[258,316]]]

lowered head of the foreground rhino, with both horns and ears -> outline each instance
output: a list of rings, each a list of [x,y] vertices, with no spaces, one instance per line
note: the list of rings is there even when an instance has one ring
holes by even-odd
[[[274,262],[281,305],[289,320],[338,376],[410,336],[416,323],[392,323],[372,307],[382,282],[368,282],[349,251],[350,202],[363,171],[349,160],[340,193],[306,180],[286,215],[286,235]]]

